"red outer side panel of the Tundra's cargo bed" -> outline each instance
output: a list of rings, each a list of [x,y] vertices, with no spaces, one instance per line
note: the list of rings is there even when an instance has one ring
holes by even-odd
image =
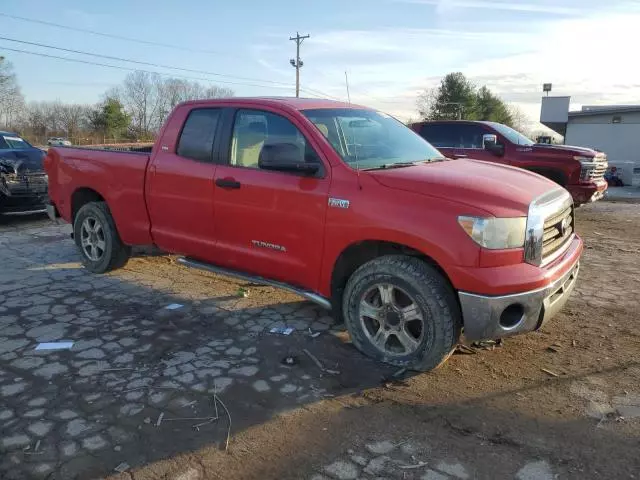
[[[51,202],[62,218],[72,222],[75,199],[102,198],[124,243],[152,243],[144,193],[150,158],[145,152],[52,147],[44,162]]]

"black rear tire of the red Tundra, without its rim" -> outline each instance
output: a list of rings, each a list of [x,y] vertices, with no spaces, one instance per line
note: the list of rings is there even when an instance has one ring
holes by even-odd
[[[81,244],[81,227],[88,217],[95,218],[104,232],[105,250],[99,260],[91,260]],[[73,238],[78,246],[82,263],[93,273],[106,273],[124,267],[131,256],[131,247],[122,243],[118,229],[105,202],[90,202],[82,206],[73,221]]]

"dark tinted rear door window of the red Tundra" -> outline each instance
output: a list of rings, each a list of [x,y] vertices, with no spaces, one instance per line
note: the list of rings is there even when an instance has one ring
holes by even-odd
[[[192,110],[182,129],[176,153],[198,162],[211,163],[219,120],[219,109]]]

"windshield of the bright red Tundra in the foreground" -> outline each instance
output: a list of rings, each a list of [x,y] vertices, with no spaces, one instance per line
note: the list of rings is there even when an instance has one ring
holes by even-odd
[[[391,168],[444,159],[430,143],[384,113],[352,108],[302,113],[352,168]]]

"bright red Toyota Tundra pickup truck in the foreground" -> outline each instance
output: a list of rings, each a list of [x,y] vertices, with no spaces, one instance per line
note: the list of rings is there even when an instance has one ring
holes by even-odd
[[[583,248],[555,183],[447,159],[392,117],[326,100],[188,102],[150,155],[53,147],[45,168],[49,215],[73,224],[89,270],[155,244],[333,308],[360,350],[418,370],[461,334],[540,328]]]

